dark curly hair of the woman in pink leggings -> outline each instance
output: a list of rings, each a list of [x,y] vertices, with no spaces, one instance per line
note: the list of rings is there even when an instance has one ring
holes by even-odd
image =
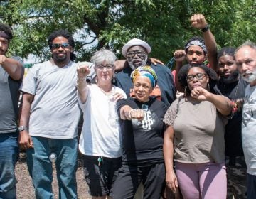
[[[178,71],[178,82],[180,82],[181,87],[183,87],[183,90],[185,91],[185,88],[186,87],[188,88],[188,82],[186,80],[186,77],[188,75],[188,71],[191,70],[191,68],[193,68],[193,67],[201,68],[202,70],[204,70],[206,72],[206,74],[209,77],[210,92],[214,92],[213,87],[215,87],[216,83],[218,82],[218,75],[213,69],[208,68],[204,64],[183,65],[181,70]],[[191,90],[189,90],[189,88],[186,89],[186,95],[190,95],[190,94],[191,94]]]

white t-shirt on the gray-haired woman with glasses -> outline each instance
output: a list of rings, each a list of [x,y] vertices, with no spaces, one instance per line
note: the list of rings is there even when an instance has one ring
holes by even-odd
[[[79,141],[79,150],[87,156],[117,158],[122,156],[121,131],[117,115],[117,103],[112,95],[105,95],[97,85],[87,85],[88,96],[85,104],[78,102],[83,112],[84,123]],[[119,87],[112,88],[112,94],[126,95]]]

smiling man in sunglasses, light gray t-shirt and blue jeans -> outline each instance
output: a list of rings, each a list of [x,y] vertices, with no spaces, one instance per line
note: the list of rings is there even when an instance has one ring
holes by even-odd
[[[52,158],[55,157],[59,197],[77,198],[78,107],[74,39],[68,31],[48,37],[52,58],[28,71],[21,90],[20,140],[36,198],[53,198]]]

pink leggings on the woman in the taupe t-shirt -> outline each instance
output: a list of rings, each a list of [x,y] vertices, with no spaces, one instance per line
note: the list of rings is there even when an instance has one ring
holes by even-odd
[[[184,199],[225,199],[227,175],[225,163],[175,162],[178,186]]]

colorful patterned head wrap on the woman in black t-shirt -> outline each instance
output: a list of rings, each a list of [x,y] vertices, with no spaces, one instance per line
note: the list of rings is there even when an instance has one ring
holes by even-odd
[[[136,80],[136,78],[139,76],[148,77],[151,82],[152,87],[156,86],[157,75],[156,75],[156,72],[154,71],[154,69],[151,68],[149,65],[140,66],[140,67],[136,68],[131,74],[132,82],[134,82]]]

